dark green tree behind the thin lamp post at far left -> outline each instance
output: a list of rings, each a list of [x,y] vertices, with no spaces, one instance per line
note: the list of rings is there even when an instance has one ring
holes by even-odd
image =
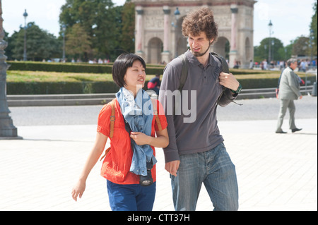
[[[9,59],[23,59],[24,28],[14,32],[8,39],[10,42]],[[28,60],[42,61],[42,59],[60,58],[62,43],[54,35],[40,29],[34,22],[26,28],[26,51]]]

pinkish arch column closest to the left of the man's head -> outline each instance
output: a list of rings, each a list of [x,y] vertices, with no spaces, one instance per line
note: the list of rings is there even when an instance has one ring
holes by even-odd
[[[170,12],[169,6],[163,6],[163,52],[161,53],[161,61],[165,63],[170,62]]]

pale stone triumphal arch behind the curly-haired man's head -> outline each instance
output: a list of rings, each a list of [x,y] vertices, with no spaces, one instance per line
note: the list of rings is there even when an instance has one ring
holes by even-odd
[[[182,36],[184,16],[195,8],[211,8],[218,24],[218,40],[211,51],[247,68],[254,58],[254,0],[132,0],[136,9],[135,51],[147,63],[168,63],[187,51]]]

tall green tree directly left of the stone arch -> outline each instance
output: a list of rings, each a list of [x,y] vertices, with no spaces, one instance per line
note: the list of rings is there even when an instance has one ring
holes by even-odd
[[[81,25],[93,49],[88,57],[114,58],[119,45],[121,7],[114,7],[111,0],[66,0],[59,23],[66,25],[66,34],[73,25]]]

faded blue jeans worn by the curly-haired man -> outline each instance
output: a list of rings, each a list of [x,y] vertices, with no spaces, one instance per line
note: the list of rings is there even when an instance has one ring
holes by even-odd
[[[175,210],[194,211],[204,183],[214,210],[238,209],[235,166],[223,143],[212,150],[180,155],[177,176],[170,175]]]

